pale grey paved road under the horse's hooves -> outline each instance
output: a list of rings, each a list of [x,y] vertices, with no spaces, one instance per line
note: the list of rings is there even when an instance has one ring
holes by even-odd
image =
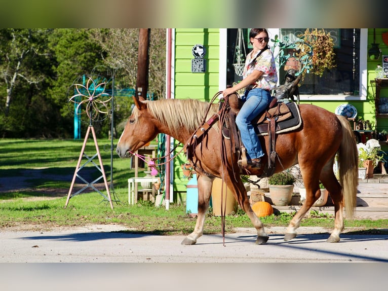
[[[285,228],[267,228],[269,240],[255,244],[254,229],[204,235],[196,245],[184,246],[183,236],[156,236],[121,232],[120,226],[90,226],[71,230],[0,232],[0,263],[42,262],[385,262],[387,235],[344,233],[339,243],[325,243],[328,230],[300,228],[285,242]]]

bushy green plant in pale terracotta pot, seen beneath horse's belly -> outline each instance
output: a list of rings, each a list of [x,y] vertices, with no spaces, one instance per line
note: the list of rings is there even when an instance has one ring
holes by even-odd
[[[290,204],[295,181],[295,177],[288,171],[275,173],[268,178],[269,193],[276,206]]]

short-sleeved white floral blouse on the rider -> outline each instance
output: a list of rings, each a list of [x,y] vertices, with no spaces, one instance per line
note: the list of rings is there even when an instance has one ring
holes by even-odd
[[[265,50],[256,60],[256,65],[250,66],[247,69],[248,64],[254,59],[257,54],[252,55],[253,51],[247,55],[247,59],[245,60],[245,67],[243,71],[243,78],[245,79],[248,75],[250,75],[254,70],[262,71],[263,74],[260,76],[258,80],[256,80],[255,88],[262,88],[265,90],[273,90],[275,89],[278,83],[278,74],[276,72],[276,65],[274,55],[272,54],[270,49]]]

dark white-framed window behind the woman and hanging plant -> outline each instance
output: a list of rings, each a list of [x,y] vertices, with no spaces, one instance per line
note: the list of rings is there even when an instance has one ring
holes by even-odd
[[[288,35],[296,40],[305,28],[269,28],[269,39],[275,35]],[[322,77],[307,74],[299,88],[300,100],[365,100],[367,95],[366,56],[368,29],[325,28],[335,42],[336,67],[325,71]],[[249,46],[248,29],[243,29],[247,53]],[[227,72],[226,84],[240,82],[242,77],[235,72],[234,55],[237,42],[237,29],[227,29]],[[269,46],[272,46],[269,41]],[[279,84],[284,83],[284,67],[279,68]]]

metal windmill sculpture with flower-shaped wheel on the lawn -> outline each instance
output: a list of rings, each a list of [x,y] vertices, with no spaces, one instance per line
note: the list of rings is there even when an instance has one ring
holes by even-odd
[[[80,157],[75,167],[75,172],[73,175],[73,179],[71,181],[71,186],[69,189],[69,193],[67,195],[65,207],[67,206],[69,199],[71,197],[80,194],[81,192],[83,192],[88,188],[92,188],[93,190],[101,194],[107,201],[109,201],[110,208],[113,209],[112,199],[110,197],[110,191],[106,181],[106,175],[105,175],[104,167],[102,165],[100,151],[98,149],[96,133],[93,127],[93,122],[103,120],[103,119],[100,119],[100,117],[110,112],[108,106],[110,105],[110,101],[113,97],[105,92],[107,82],[105,81],[101,82],[101,80],[104,80],[103,78],[100,78],[97,75],[86,75],[84,76],[84,78],[87,78],[87,81],[84,82],[85,85],[74,83],[71,86],[74,89],[73,92],[76,92],[76,94],[74,94],[72,97],[69,98],[69,102],[71,101],[77,104],[76,111],[75,111],[76,114],[80,114],[80,115],[86,114],[88,116],[89,126],[85,134],[85,139],[82,145]],[[98,83],[98,82],[101,82],[101,83]],[[92,132],[94,144],[96,147],[96,153],[92,157],[89,157],[88,155],[85,154],[85,147],[86,147],[86,143],[88,141],[90,132]],[[83,157],[86,157],[87,161],[81,166],[81,161]],[[98,157],[99,165],[93,161],[95,157]],[[80,174],[80,171],[89,163],[92,163],[101,172],[101,176],[99,176],[98,178],[96,178],[90,183],[86,179],[84,179]],[[82,181],[84,181],[86,186],[81,190],[77,191],[76,193],[71,194],[76,177],[79,177]],[[101,178],[104,179],[107,196],[104,195],[101,191],[99,191],[94,186],[94,184],[97,181],[99,181]]]

